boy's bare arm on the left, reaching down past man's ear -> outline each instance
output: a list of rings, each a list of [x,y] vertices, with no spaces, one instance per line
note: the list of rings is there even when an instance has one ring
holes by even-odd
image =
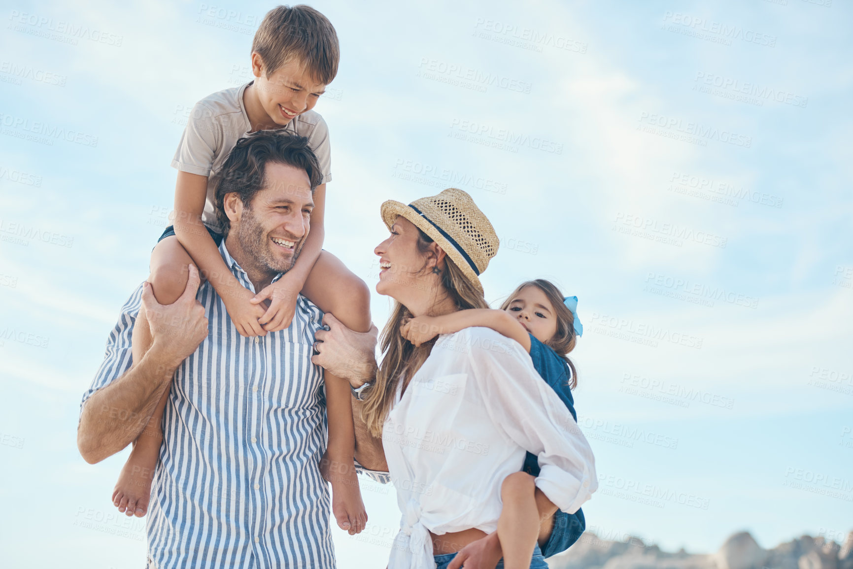
[[[252,291],[237,281],[205,225],[201,223],[206,195],[206,176],[177,172],[174,223],[177,241],[222,297],[237,331],[243,336],[263,336],[266,332],[258,323],[258,316],[264,313],[264,309],[249,304],[249,299],[254,296]]]

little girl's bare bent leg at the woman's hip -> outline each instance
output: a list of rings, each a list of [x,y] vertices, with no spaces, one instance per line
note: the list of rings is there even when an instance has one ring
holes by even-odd
[[[536,479],[530,474],[512,473],[503,479],[503,509],[497,520],[506,569],[528,569],[539,535],[539,510],[536,505]]]

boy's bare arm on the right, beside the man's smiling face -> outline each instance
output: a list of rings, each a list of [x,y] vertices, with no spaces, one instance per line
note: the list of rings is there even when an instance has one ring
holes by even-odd
[[[259,323],[267,332],[283,330],[290,326],[293,314],[296,312],[296,297],[305,287],[305,281],[316,260],[320,257],[322,242],[326,237],[323,228],[323,216],[326,209],[326,184],[321,183],[314,189],[314,209],[310,215],[310,229],[305,237],[305,244],[299,250],[296,263],[281,278],[264,287],[252,299],[253,303],[260,303],[264,299],[270,299],[270,307],[261,316]]]

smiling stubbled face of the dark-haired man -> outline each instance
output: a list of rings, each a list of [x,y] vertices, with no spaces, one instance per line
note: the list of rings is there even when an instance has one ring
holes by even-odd
[[[314,209],[308,174],[291,165],[268,163],[264,188],[249,206],[238,209],[231,230],[244,262],[273,273],[290,270],[308,237]]]

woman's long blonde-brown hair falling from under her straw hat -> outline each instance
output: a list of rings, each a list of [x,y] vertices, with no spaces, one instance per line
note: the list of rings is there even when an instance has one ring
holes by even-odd
[[[418,229],[417,247],[421,255],[427,253],[432,242],[429,235]],[[468,280],[467,276],[450,257],[445,255],[444,264],[445,269],[441,271],[441,285],[447,297],[453,299],[456,310],[489,308],[483,294],[474,287],[473,283]],[[427,263],[425,261],[421,270],[415,271],[414,274],[419,275],[426,268]],[[433,299],[433,304],[442,299]],[[382,363],[376,372],[376,381],[369,388],[361,409],[362,419],[374,437],[382,436],[382,425],[385,423],[388,411],[394,404],[397,385],[401,380],[408,383],[417,370],[421,368],[421,365],[427,361],[427,357],[432,351],[432,345],[436,341],[436,338],[433,338],[421,344],[420,347],[415,347],[409,340],[404,339],[400,334],[400,325],[406,316],[412,316],[412,313],[395,300],[394,309],[380,335]],[[403,383],[403,387],[406,386],[406,383]]]

